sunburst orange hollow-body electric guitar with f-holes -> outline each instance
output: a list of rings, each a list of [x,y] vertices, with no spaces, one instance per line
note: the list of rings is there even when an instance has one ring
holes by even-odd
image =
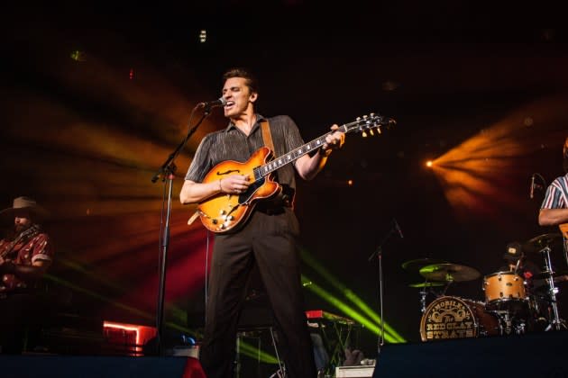
[[[362,135],[366,136],[367,131],[371,135],[373,130],[381,133],[381,128],[389,128],[394,124],[396,121],[391,118],[371,113],[353,122],[345,123],[338,130],[344,133],[362,132]],[[215,182],[229,175],[245,175],[249,177],[251,184],[244,193],[218,193],[199,202],[197,215],[203,225],[215,233],[238,229],[251,215],[256,202],[277,195],[282,190],[281,186],[272,180],[272,173],[281,166],[286,166],[299,157],[321,148],[325,144],[325,137],[332,132],[334,131],[328,131],[321,137],[274,159],[272,159],[273,153],[270,148],[261,147],[254,151],[244,163],[225,160],[214,166],[207,173],[203,183]]]

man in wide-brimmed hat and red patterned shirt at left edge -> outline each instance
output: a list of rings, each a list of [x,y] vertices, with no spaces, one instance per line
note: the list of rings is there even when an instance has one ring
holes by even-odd
[[[41,316],[34,286],[51,265],[54,248],[40,226],[48,211],[28,197],[14,199],[0,218],[14,220],[14,229],[0,240],[1,353],[22,352],[23,330]]]

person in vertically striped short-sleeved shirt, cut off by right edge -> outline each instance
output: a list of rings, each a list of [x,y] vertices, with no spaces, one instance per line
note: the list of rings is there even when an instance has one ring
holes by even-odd
[[[563,146],[563,168],[565,175],[556,177],[546,188],[545,200],[538,213],[538,224],[541,226],[568,223],[568,138]]]

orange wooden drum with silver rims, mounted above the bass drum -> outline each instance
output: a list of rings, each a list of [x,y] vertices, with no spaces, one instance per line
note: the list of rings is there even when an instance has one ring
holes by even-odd
[[[525,282],[520,275],[514,272],[497,272],[483,277],[483,291],[485,302],[496,304],[507,301],[524,301]]]

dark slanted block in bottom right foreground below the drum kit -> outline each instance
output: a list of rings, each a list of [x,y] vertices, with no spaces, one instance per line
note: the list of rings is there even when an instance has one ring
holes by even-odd
[[[382,348],[372,376],[565,377],[566,346],[567,331],[388,344]]]

